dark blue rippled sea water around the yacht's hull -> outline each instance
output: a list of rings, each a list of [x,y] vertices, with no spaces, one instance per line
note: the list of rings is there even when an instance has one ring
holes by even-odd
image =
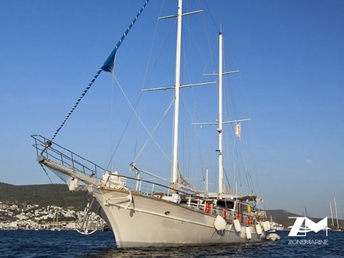
[[[258,244],[118,249],[111,232],[0,230],[0,257],[344,257],[344,232],[307,233]]]

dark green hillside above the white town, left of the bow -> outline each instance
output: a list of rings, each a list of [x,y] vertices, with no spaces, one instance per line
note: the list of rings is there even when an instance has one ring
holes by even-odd
[[[83,211],[87,204],[82,191],[71,193],[66,184],[15,186],[1,182],[0,202],[39,204],[40,207],[54,205],[76,211]]]

